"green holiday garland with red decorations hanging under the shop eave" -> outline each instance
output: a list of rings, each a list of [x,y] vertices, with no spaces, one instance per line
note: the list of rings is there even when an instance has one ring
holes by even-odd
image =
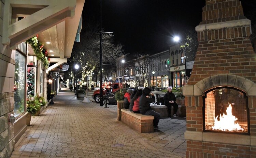
[[[41,60],[44,63],[44,66],[48,68],[50,63],[50,58],[47,57],[48,52],[47,50],[43,49],[43,44],[37,40],[38,35],[26,40],[34,50],[35,55],[37,56],[38,60]]]

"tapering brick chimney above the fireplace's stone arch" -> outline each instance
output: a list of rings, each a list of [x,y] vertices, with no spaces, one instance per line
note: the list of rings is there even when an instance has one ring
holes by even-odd
[[[239,0],[206,0],[196,27],[198,49],[187,85],[216,74],[234,74],[256,82],[256,56],[250,41],[251,21]]]

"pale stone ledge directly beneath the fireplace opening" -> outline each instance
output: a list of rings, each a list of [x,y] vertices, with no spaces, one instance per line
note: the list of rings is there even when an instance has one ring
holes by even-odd
[[[185,139],[201,142],[256,146],[256,136],[250,135],[186,131]]]

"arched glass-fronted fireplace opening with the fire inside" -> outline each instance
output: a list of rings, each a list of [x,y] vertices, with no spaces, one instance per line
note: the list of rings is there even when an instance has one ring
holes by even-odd
[[[217,87],[203,96],[204,131],[250,134],[248,98],[232,87]]]

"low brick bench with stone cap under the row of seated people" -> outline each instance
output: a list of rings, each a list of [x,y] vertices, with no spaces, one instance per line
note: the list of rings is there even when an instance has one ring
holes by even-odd
[[[129,109],[121,109],[121,121],[132,129],[139,131],[140,133],[154,132],[153,120],[154,116],[142,115],[140,113],[134,113]]]

